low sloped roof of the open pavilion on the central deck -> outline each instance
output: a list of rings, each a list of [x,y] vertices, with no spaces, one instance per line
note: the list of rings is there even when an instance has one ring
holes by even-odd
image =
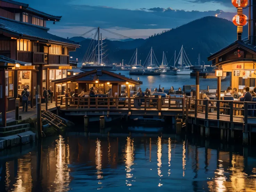
[[[141,81],[136,81],[134,79],[130,79],[127,78],[123,75],[119,75],[110,71],[106,71],[106,70],[91,70],[91,71],[87,71],[85,73],[81,73],[81,74],[77,74],[74,75],[72,77],[67,77],[67,78],[63,78],[63,79],[56,79],[56,80],[52,80],[51,82],[55,82],[55,83],[63,83],[63,82],[67,82],[67,81],[95,81],[94,77],[95,75],[97,75],[99,82],[101,81],[110,81],[110,82],[131,82],[134,83],[136,85],[142,84]]]

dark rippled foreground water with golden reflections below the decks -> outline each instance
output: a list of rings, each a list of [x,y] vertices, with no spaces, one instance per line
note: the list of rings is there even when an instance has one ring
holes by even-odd
[[[216,143],[206,149],[205,141],[175,135],[49,137],[1,152],[0,191],[256,191],[256,157]]]

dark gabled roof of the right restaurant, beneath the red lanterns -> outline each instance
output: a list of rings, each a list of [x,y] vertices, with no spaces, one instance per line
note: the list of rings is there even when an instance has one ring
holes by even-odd
[[[256,47],[252,46],[249,44],[248,38],[243,39],[242,41],[235,41],[233,43],[231,43],[230,45],[222,48],[221,50],[217,51],[216,53],[212,54],[211,56],[207,57],[208,61],[211,61],[213,59],[215,59],[218,56],[224,55],[225,53],[231,51],[232,49],[234,49],[235,47],[240,46],[243,49],[256,54]]]

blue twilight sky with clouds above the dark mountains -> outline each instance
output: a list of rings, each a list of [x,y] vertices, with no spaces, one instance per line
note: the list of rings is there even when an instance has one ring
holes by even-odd
[[[47,27],[50,33],[64,38],[80,36],[97,26],[131,38],[147,38],[205,16],[218,14],[231,20],[236,11],[231,0],[44,0],[43,4],[41,0],[19,1],[63,16],[61,22],[48,22]],[[90,36],[91,33],[84,37]],[[120,38],[107,32],[103,36]]]

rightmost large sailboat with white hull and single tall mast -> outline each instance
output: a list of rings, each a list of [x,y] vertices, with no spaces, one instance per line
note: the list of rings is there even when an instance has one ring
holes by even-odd
[[[186,55],[185,50],[183,49],[183,45],[181,50],[179,51],[178,57],[175,61],[175,65],[178,61],[178,66],[176,66],[176,74],[177,75],[189,75],[192,72],[192,64],[189,61],[189,58]],[[174,66],[175,66],[174,65]]]

